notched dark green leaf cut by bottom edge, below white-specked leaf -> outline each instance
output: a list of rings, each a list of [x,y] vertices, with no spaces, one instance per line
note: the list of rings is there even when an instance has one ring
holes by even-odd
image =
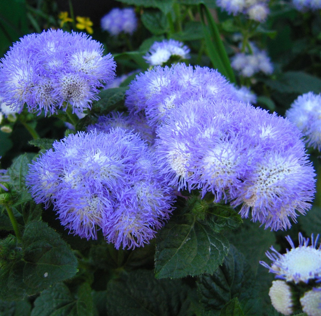
[[[80,285],[77,295],[63,283],[41,292],[34,302],[31,316],[92,316],[93,301],[88,283]]]

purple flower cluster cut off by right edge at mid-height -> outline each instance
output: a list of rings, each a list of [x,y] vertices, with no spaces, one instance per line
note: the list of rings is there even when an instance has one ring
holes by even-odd
[[[321,94],[300,95],[285,114],[306,136],[308,146],[321,151]]]

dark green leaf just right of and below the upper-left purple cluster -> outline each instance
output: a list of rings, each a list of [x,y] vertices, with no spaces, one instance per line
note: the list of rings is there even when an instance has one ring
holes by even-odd
[[[92,111],[102,113],[115,110],[115,104],[124,100],[127,89],[128,87],[120,87],[100,91],[100,99],[92,105]]]

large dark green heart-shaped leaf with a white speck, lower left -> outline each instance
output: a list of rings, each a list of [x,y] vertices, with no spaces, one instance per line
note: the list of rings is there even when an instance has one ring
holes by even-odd
[[[77,259],[70,247],[44,222],[26,225],[22,252],[21,260],[9,260],[0,269],[0,297],[4,300],[39,293],[77,272]]]

